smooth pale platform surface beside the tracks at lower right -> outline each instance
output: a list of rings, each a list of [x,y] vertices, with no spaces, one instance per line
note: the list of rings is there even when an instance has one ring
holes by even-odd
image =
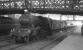
[[[51,50],[83,50],[83,36],[81,34],[70,35]]]

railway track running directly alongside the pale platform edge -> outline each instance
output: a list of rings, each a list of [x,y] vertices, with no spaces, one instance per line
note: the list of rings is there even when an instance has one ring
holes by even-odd
[[[56,39],[51,41],[51,43],[48,43],[47,45],[41,47],[39,50],[51,50],[53,46],[56,46],[58,43],[64,40],[68,35],[70,35],[72,33],[72,29],[68,29],[66,32],[67,34],[57,37]]]

